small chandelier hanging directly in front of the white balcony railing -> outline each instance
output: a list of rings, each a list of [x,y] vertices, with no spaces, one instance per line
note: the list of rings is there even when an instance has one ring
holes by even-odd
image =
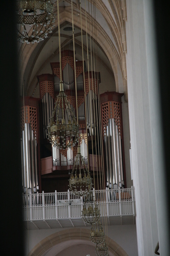
[[[100,209],[94,200],[92,191],[87,195],[84,202],[82,218],[86,224],[90,225],[96,223],[100,218]]]

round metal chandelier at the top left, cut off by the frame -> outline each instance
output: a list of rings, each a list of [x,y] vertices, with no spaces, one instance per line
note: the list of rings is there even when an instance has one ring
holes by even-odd
[[[53,4],[51,0],[17,0],[16,19],[19,42],[40,42],[47,33],[52,33],[55,20]]]

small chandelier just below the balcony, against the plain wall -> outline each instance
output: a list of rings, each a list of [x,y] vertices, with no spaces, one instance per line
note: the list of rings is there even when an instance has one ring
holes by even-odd
[[[90,241],[94,244],[101,244],[105,241],[105,233],[100,221],[92,225],[90,230]]]

